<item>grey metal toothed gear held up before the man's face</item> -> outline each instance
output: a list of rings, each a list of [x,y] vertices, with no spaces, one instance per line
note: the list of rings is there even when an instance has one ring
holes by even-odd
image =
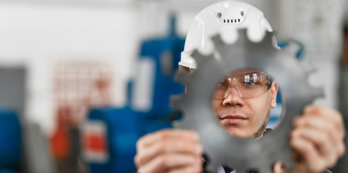
[[[249,168],[259,173],[270,173],[276,161],[282,161],[290,168],[295,162],[291,157],[288,133],[291,120],[300,115],[305,105],[314,98],[323,96],[322,89],[308,86],[308,72],[288,52],[272,46],[273,34],[268,32],[260,43],[248,40],[246,30],[239,30],[235,44],[223,43],[220,36],[214,36],[215,51],[210,55],[192,54],[198,68],[187,76],[178,72],[176,80],[187,86],[187,94],[172,98],[172,105],[183,112],[179,128],[197,131],[205,152],[211,156],[209,171],[216,172],[222,164],[229,164],[238,173]],[[211,106],[213,91],[218,80],[232,71],[259,69],[277,79],[283,97],[283,120],[276,130],[258,140],[240,139],[229,135],[216,121]],[[285,114],[285,115],[284,115]]]

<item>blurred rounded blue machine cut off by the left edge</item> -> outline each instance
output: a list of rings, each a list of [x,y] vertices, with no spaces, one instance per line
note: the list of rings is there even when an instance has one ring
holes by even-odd
[[[22,156],[22,130],[18,117],[0,111],[0,173],[16,173]]]

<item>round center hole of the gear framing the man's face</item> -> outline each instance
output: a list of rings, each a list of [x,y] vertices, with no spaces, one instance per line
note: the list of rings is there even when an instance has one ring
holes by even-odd
[[[221,77],[211,104],[218,123],[238,138],[258,138],[282,120],[277,80],[257,69],[237,70]]]

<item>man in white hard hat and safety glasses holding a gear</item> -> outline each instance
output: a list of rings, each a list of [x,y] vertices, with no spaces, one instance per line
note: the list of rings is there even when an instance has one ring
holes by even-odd
[[[211,53],[214,50],[211,36],[219,33],[226,43],[238,39],[237,29],[247,28],[251,41],[260,41],[265,31],[271,32],[262,12],[238,1],[223,1],[207,7],[195,18],[185,42],[185,50],[179,63],[182,70],[197,68],[190,57],[193,50]],[[274,46],[276,41],[274,39]],[[255,70],[242,70],[229,74],[217,86],[212,106],[220,124],[240,138],[262,136],[268,122],[270,108],[276,106],[278,85],[276,82],[260,85],[259,92],[243,91],[242,87],[254,86],[240,79],[262,75]],[[267,75],[264,74],[267,78]],[[255,90],[256,91],[256,90]],[[188,91],[189,92],[189,91]],[[345,153],[343,138],[345,129],[339,112],[323,107],[308,106],[293,121],[289,134],[290,146],[298,162],[291,170],[285,170],[281,162],[274,166],[274,173],[322,173],[333,167]],[[194,131],[166,129],[150,133],[137,142],[134,158],[140,173],[201,173],[203,147]]]

